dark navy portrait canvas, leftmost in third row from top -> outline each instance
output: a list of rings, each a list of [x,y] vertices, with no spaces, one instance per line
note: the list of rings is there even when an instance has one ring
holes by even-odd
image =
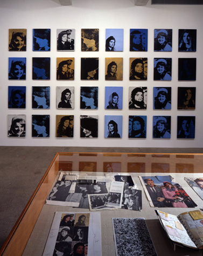
[[[26,107],[26,86],[9,86],[8,108]]]

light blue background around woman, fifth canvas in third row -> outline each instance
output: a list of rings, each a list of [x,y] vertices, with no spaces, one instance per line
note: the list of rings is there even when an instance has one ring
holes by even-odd
[[[109,103],[112,100],[112,94],[116,92],[118,95],[117,107],[118,109],[123,108],[123,87],[105,87],[105,109],[109,106]],[[114,108],[116,109],[116,108]]]

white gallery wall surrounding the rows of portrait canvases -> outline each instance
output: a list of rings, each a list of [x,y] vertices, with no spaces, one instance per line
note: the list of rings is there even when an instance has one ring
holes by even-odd
[[[134,0],[73,0],[61,6],[59,0],[0,1],[0,107],[1,146],[84,147],[203,147],[203,5],[135,6]],[[9,29],[27,29],[27,51],[9,52]],[[32,51],[32,29],[51,29],[51,51]],[[57,29],[75,29],[75,51],[57,52]],[[99,52],[81,52],[81,29],[99,29]],[[124,29],[123,52],[106,52],[106,29]],[[130,52],[130,29],[148,29],[148,51]],[[154,29],[172,29],[172,52],[153,51]],[[197,29],[197,52],[178,52],[178,29]],[[8,58],[26,57],[26,80],[8,80]],[[51,79],[32,80],[32,58],[51,58]],[[57,57],[75,58],[75,79],[56,80]],[[99,57],[99,80],[80,80],[81,57]],[[123,81],[105,81],[105,58],[123,58]],[[129,58],[148,58],[148,80],[129,80]],[[153,81],[153,59],[172,58],[172,80]],[[178,58],[197,58],[196,81],[178,81]],[[26,86],[26,109],[8,109],[8,86]],[[32,109],[32,86],[50,86],[50,109]],[[74,86],[74,109],[56,108],[56,87]],[[80,87],[98,86],[98,109],[80,109]],[[123,87],[123,109],[104,109],[105,86]],[[129,110],[129,86],[148,87],[147,109]],[[153,87],[172,87],[171,110],[153,110]],[[195,110],[177,109],[177,88],[196,87]],[[26,136],[8,137],[7,116],[26,115]],[[50,115],[50,137],[32,137],[32,115]],[[55,137],[56,115],[74,115],[74,137]],[[80,115],[98,115],[98,138],[80,138]],[[122,139],[104,138],[104,116],[122,115]],[[146,139],[128,138],[129,115],[146,115]],[[153,115],[171,116],[171,139],[152,139]],[[177,139],[177,116],[195,116],[195,139]]]

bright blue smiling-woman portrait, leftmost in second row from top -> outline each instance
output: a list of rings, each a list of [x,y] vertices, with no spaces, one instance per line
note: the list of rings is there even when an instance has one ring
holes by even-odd
[[[9,80],[26,79],[26,58],[9,58]]]

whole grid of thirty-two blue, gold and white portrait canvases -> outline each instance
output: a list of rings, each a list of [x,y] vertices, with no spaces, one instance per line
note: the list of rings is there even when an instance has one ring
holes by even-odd
[[[178,51],[195,52],[197,30],[179,29]],[[131,52],[148,51],[148,30],[130,29]],[[33,51],[51,51],[51,29],[33,29]],[[75,30],[57,30],[57,51],[74,51]],[[104,40],[105,41],[105,40]],[[154,51],[172,51],[172,29],[154,30]],[[174,46],[173,46],[174,47]],[[26,29],[9,29],[9,51],[26,51]],[[99,51],[99,29],[81,29],[81,51]],[[123,51],[123,29],[106,29],[106,51]],[[141,54],[142,56],[142,54]],[[32,58],[32,108],[50,108],[50,86],[38,86],[37,80],[50,80],[51,58]],[[105,80],[123,80],[123,58],[105,58]],[[153,60],[153,80],[171,81],[172,58]],[[147,80],[148,58],[130,58],[129,80]],[[99,80],[99,58],[81,58],[81,80]],[[9,57],[9,80],[26,79],[26,58]],[[74,80],[74,58],[57,58],[57,80]],[[178,80],[196,80],[196,58],[178,58]],[[8,87],[8,107],[26,107],[26,86]],[[105,109],[122,109],[123,87],[105,86]],[[146,109],[147,87],[135,83],[129,88],[129,109]],[[195,109],[196,87],[178,87],[178,109]],[[73,86],[57,86],[57,109],[74,109]],[[98,108],[98,86],[80,87],[80,109]],[[153,87],[153,109],[171,109],[171,87]],[[136,112],[137,113],[137,112]],[[105,115],[104,137],[122,137],[122,115]],[[80,137],[98,136],[98,115],[80,115]],[[146,115],[129,115],[129,138],[146,138]],[[73,137],[74,115],[56,116],[56,137]],[[177,138],[194,139],[195,116],[177,116]],[[25,137],[25,115],[8,115],[8,136]],[[50,137],[50,115],[32,115],[32,137]],[[171,137],[171,116],[153,116],[153,138]]]

